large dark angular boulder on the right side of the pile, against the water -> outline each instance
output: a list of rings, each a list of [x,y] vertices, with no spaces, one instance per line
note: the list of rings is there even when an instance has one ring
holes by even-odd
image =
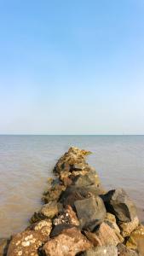
[[[110,190],[101,196],[107,207],[107,212],[113,213],[118,221],[130,222],[136,217],[136,208],[124,189]]]

